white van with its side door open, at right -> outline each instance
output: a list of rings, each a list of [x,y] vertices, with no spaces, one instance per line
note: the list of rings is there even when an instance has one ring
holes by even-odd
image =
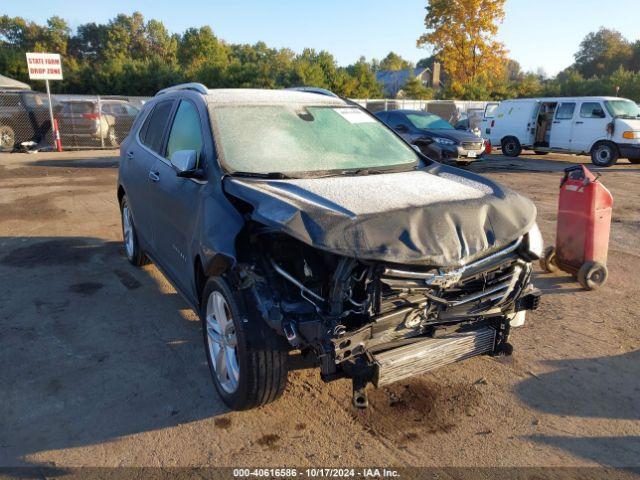
[[[526,98],[489,103],[482,132],[508,157],[523,149],[590,154],[600,167],[640,163],[640,108],[617,97]]]

